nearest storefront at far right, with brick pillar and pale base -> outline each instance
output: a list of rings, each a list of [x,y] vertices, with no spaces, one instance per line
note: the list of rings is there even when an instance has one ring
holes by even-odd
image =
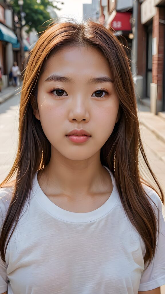
[[[164,3],[164,4],[163,4]],[[149,100],[151,112],[157,113],[164,108],[164,89],[163,89],[163,68],[164,66],[164,37],[165,37],[165,1],[144,0],[140,7],[141,25],[138,42],[142,48],[146,48],[144,78],[144,98]],[[140,25],[139,25],[140,28]],[[145,32],[145,34],[144,34]],[[145,43],[145,44],[144,44]],[[144,50],[143,50],[144,52]],[[139,49],[138,67],[140,66],[142,55]]]

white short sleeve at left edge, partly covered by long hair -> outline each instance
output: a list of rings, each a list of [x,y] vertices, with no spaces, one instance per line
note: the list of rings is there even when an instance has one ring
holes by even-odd
[[[9,206],[9,196],[11,195],[11,190],[1,188],[0,189],[0,232],[2,229],[3,221],[5,218],[6,210]],[[8,281],[7,276],[7,263],[1,259],[0,256],[0,293],[4,293],[8,290]]]

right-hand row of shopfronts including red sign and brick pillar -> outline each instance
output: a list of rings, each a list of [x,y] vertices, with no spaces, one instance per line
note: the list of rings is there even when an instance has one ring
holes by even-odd
[[[100,22],[131,49],[137,97],[151,112],[165,111],[165,0],[101,0]]]

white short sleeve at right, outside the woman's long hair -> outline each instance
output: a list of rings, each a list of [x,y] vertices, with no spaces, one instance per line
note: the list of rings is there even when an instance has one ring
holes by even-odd
[[[154,258],[148,268],[147,265],[144,267],[140,280],[139,291],[149,291],[165,285],[165,207],[159,195],[155,191],[149,190],[148,194],[157,206],[156,208],[154,203],[151,203],[159,222],[159,231],[157,229],[156,251]]]

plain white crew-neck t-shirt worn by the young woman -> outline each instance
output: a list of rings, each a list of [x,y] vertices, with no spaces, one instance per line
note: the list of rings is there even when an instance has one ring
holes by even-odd
[[[127,218],[110,175],[113,191],[108,200],[94,211],[75,213],[50,201],[36,173],[6,263],[0,261],[0,293],[137,294],[165,284],[165,212],[159,196],[145,186],[158,207],[151,202],[156,215],[159,211],[160,233],[154,260],[144,271],[144,242]],[[3,220],[11,192],[0,190]]]

